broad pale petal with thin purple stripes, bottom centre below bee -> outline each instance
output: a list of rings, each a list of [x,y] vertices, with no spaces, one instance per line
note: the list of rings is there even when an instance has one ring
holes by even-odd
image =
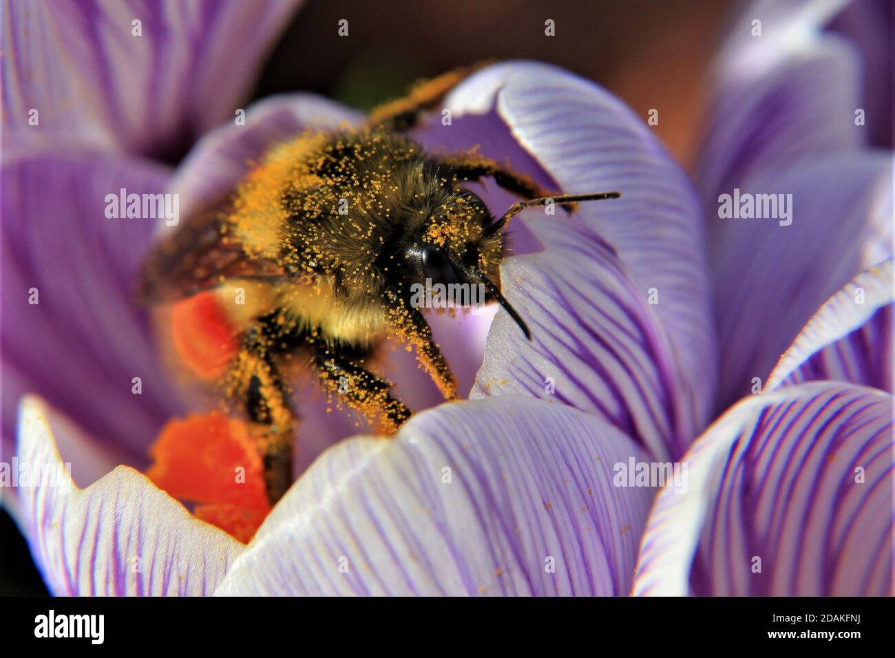
[[[568,406],[439,406],[328,449],[215,594],[626,594],[653,493],[613,485],[632,458]]]

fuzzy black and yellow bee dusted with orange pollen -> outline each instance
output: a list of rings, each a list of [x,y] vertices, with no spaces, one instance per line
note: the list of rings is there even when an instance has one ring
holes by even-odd
[[[374,110],[361,127],[278,144],[225,199],[183,221],[145,263],[145,303],[188,300],[175,306],[181,336],[200,331],[209,317],[223,317],[232,328],[218,336],[233,348],[220,352],[223,363],[212,375],[251,422],[271,503],[292,482],[297,416],[284,359],[307,355],[325,389],[394,431],[411,412],[392,395],[391,383],[365,366],[384,336],[413,345],[444,397],[456,397],[450,367],[411,303],[413,284],[428,278],[483,286],[486,299],[530,338],[500,293],[507,221],[549,202],[571,211],[577,201],[619,196],[550,194],[488,158],[435,156],[407,139],[403,133],[468,73],[423,83]],[[464,186],[485,177],[524,201],[494,218]],[[234,304],[237,290],[243,303]],[[219,330],[220,322],[212,324]]]

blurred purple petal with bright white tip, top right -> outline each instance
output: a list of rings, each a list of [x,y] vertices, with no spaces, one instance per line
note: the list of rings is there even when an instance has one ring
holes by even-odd
[[[848,39],[823,31],[845,4],[760,0],[746,4],[731,21],[708,82],[702,153],[695,167],[710,212],[720,193],[763,167],[857,150],[867,141],[867,128],[855,122],[857,50]]]

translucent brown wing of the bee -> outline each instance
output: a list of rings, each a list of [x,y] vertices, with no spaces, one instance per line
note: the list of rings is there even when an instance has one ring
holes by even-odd
[[[217,203],[185,220],[155,245],[137,286],[141,303],[173,302],[219,286],[224,278],[276,278],[274,261],[252,258],[226,233],[229,203]]]

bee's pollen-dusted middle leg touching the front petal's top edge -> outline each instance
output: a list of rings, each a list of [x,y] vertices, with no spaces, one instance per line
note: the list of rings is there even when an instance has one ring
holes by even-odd
[[[351,358],[341,350],[328,346],[319,336],[307,337],[311,346],[311,361],[320,381],[337,393],[348,406],[368,418],[382,414],[389,432],[395,432],[411,412],[403,402],[391,394],[391,382],[363,367],[362,353]]]

